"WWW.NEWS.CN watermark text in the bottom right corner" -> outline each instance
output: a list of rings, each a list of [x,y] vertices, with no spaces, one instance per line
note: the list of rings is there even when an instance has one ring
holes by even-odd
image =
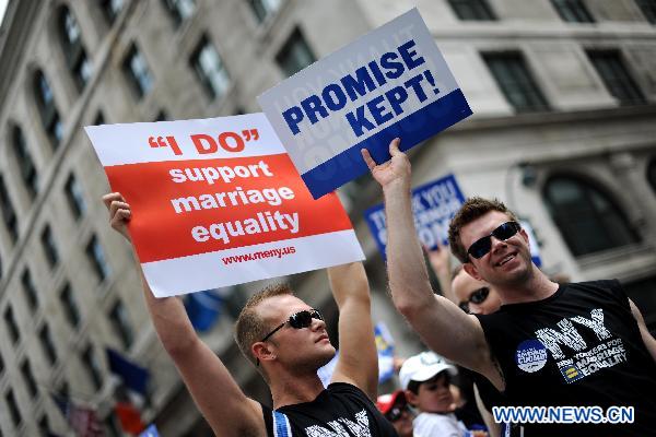
[[[493,406],[496,423],[631,424],[633,406]]]

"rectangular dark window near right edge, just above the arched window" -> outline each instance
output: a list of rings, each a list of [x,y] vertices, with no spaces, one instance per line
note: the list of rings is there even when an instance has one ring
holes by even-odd
[[[587,55],[608,92],[620,102],[620,105],[646,103],[618,51],[588,51]]]

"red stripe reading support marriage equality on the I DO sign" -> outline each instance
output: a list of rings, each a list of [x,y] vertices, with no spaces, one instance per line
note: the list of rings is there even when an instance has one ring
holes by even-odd
[[[105,170],[132,205],[142,263],[352,228],[337,196],[314,200],[286,154]]]

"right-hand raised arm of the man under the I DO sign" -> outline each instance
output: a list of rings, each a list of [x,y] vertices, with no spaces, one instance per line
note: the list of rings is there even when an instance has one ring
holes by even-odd
[[[332,382],[350,382],[376,399],[378,354],[370,287],[362,262],[331,267],[328,279],[339,308],[339,359]]]

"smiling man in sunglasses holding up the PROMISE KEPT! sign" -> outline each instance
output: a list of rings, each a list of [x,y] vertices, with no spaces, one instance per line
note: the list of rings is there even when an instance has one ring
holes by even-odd
[[[385,196],[395,306],[426,345],[487,377],[508,405],[599,408],[587,417],[597,423],[551,417],[550,424],[525,423],[526,436],[655,435],[656,340],[639,309],[617,281],[551,282],[501,202],[468,200],[449,226],[452,251],[469,275],[494,287],[501,309],[466,315],[434,295],[412,218],[410,162],[399,142],[390,143],[391,160],[380,165],[362,153]],[[601,423],[616,421],[613,405],[633,406],[633,423]]]

